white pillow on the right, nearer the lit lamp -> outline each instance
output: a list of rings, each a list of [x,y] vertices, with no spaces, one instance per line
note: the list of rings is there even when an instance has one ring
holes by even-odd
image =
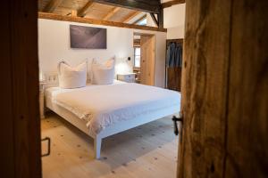
[[[96,85],[110,85],[113,84],[115,59],[112,58],[104,63],[97,63],[93,61],[91,65],[92,70],[92,84]]]

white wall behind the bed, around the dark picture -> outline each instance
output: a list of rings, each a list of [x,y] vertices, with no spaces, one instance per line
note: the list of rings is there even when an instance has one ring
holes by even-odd
[[[107,49],[88,50],[71,49],[70,24],[107,28]],[[106,26],[89,25],[57,20],[38,20],[38,55],[39,68],[44,73],[55,72],[59,61],[67,61],[77,65],[81,61],[93,58],[105,61],[116,56],[116,73],[132,71],[133,63],[133,33],[155,34],[155,85],[164,86],[164,60],[166,33],[146,31],[130,28],[115,28]],[[127,61],[128,57],[131,61]],[[89,62],[90,63],[90,62]]]

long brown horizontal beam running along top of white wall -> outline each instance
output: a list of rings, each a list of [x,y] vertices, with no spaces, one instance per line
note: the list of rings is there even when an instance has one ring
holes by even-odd
[[[73,21],[73,22],[80,22],[80,23],[88,23],[88,24],[96,24],[96,25],[105,25],[105,26],[113,26],[119,28],[135,28],[135,29],[143,29],[143,30],[151,30],[151,31],[162,31],[166,32],[166,28],[154,28],[154,27],[146,27],[146,26],[139,26],[129,23],[121,23],[115,21],[106,21],[106,20],[95,20],[90,18],[80,18],[80,17],[70,17],[70,16],[63,16],[57,15],[54,13],[46,13],[46,12],[38,12],[39,19],[46,19],[46,20],[62,20],[62,21]]]

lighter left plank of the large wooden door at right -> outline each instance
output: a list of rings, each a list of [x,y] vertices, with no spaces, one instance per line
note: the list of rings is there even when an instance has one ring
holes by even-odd
[[[179,177],[221,178],[229,66],[230,0],[186,1]]]

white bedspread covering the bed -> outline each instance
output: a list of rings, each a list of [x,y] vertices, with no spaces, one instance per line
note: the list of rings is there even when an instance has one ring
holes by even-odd
[[[54,103],[70,110],[95,134],[121,120],[135,119],[155,110],[176,108],[180,111],[180,93],[155,86],[117,83],[87,85],[78,89],[48,89]],[[172,113],[171,113],[172,114]]]

